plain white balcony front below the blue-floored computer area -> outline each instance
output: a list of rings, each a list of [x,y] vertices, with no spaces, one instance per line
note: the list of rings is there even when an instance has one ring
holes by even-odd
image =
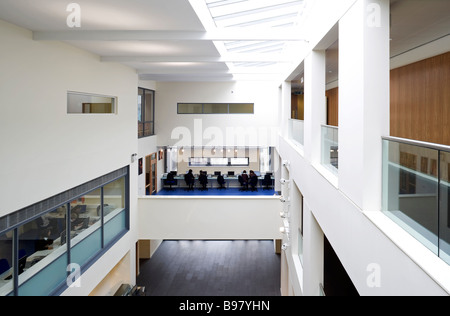
[[[278,197],[139,198],[139,239],[281,239]]]

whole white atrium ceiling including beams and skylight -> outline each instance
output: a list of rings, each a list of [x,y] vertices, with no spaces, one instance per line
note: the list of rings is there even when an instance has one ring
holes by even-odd
[[[298,27],[311,1],[78,0],[81,27],[70,28],[68,3],[1,0],[0,19],[148,80],[283,80],[291,48],[304,43]]]

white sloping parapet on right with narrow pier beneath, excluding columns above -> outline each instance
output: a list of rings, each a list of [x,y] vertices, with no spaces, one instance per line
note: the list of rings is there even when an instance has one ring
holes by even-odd
[[[298,185],[307,204],[307,220],[304,223],[304,277],[315,275],[316,280],[304,283],[304,293],[317,293],[317,281],[320,278],[314,267],[323,262],[314,247],[308,245],[320,245],[320,234],[317,234],[320,229],[332,243],[361,295],[446,295],[439,283],[406,255],[391,240],[392,237],[387,237],[367,214],[328,182],[284,139],[280,139],[280,154],[283,159],[291,161],[289,176]],[[311,215],[307,210],[310,210]],[[317,220],[320,228],[311,224],[311,218]],[[309,233],[310,231],[313,233]],[[426,250],[421,250],[418,242],[415,246],[419,253],[426,253]],[[433,254],[430,252],[430,255]],[[440,259],[436,257],[436,260]],[[381,267],[379,288],[371,288],[367,283],[371,276],[367,268],[373,263]]]

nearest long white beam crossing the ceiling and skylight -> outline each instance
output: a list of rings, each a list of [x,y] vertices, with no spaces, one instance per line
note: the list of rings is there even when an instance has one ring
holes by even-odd
[[[299,30],[35,31],[36,41],[305,41]]]

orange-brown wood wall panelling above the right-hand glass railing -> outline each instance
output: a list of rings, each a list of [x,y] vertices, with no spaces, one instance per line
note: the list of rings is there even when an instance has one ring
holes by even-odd
[[[450,145],[450,52],[391,71],[391,135]]]

